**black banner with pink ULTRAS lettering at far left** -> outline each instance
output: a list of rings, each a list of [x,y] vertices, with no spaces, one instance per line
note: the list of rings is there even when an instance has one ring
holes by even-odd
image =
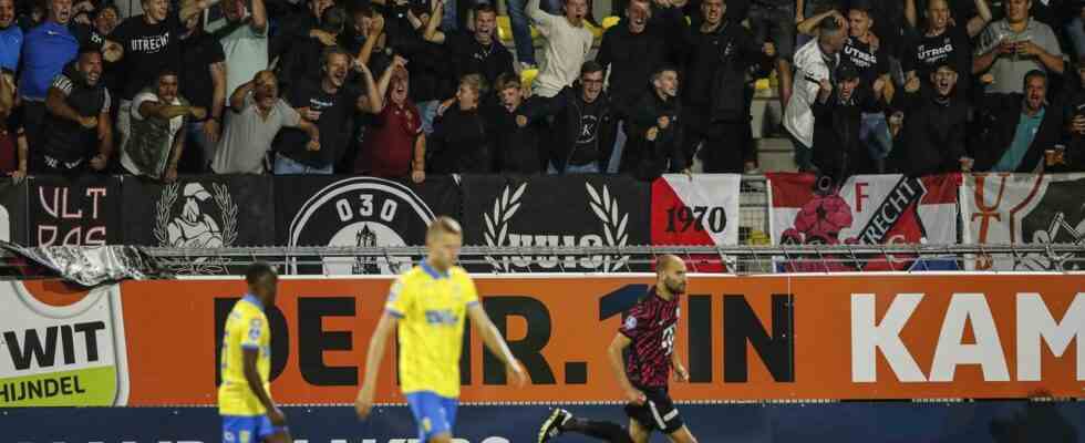
[[[29,246],[121,244],[120,176],[32,176],[28,182]]]

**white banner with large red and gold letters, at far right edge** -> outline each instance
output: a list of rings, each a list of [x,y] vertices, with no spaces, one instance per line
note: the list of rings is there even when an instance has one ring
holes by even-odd
[[[969,244],[1085,244],[1085,175],[974,174],[964,177],[961,217]],[[1082,270],[1081,255],[974,257],[969,269]]]

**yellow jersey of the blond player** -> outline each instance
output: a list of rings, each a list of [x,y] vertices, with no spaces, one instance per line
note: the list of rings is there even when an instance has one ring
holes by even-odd
[[[440,274],[422,261],[389,293],[384,309],[399,319],[400,388],[459,396],[459,352],[467,308],[478,303],[475,282],[454,267]]]

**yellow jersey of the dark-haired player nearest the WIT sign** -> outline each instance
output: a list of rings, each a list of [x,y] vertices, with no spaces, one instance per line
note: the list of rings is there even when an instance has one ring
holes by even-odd
[[[271,328],[264,306],[252,295],[234,305],[226,319],[223,337],[223,384],[218,387],[218,413],[220,415],[264,415],[267,410],[252,393],[245,380],[244,349],[257,349],[256,371],[264,381],[264,389],[271,395]]]

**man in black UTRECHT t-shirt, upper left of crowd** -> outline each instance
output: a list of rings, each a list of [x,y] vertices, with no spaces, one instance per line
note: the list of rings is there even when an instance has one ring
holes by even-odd
[[[113,31],[103,45],[107,62],[118,62],[124,87],[114,91],[120,99],[117,142],[124,146],[131,134],[132,99],[157,81],[164,69],[176,71],[180,60],[183,23],[206,10],[209,0],[183,0],[180,11],[169,12],[168,0],[142,0],[143,14],[130,17]]]

